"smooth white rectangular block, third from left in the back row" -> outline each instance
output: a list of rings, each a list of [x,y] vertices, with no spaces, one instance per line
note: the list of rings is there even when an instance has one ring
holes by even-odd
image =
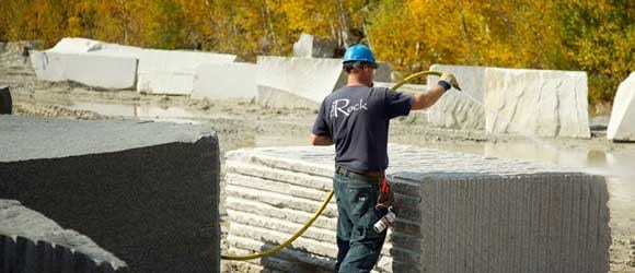
[[[254,98],[256,71],[253,63],[203,63],[194,74],[192,98]]]

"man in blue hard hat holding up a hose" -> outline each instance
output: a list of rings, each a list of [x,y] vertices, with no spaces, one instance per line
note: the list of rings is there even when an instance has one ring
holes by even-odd
[[[338,212],[335,271],[370,272],[385,239],[385,230],[378,234],[372,225],[390,206],[378,205],[380,183],[388,167],[389,121],[434,105],[447,90],[459,84],[452,74],[443,74],[437,85],[413,96],[372,87],[377,62],[365,45],[348,48],[343,67],[348,83],[324,98],[311,138],[313,145],[335,143],[333,189]],[[385,201],[381,199],[379,203]]]

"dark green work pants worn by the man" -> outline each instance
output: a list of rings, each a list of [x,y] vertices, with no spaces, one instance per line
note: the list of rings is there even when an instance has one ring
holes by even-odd
[[[370,272],[385,239],[372,225],[385,213],[376,210],[379,185],[342,175],[333,177],[337,200],[337,263],[335,272]]]

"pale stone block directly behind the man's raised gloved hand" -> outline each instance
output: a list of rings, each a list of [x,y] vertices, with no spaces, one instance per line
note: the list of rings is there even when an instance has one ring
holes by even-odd
[[[431,71],[448,72],[457,76],[461,92],[447,92],[428,109],[428,121],[436,127],[483,130],[485,129],[485,67],[432,64]],[[428,85],[437,84],[439,76],[429,75]]]

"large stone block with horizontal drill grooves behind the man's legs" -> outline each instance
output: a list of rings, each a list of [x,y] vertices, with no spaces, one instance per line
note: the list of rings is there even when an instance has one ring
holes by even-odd
[[[602,177],[555,166],[389,145],[400,209],[376,272],[607,272]],[[231,254],[291,237],[332,189],[333,147],[228,153]],[[274,256],[231,262],[241,272],[331,272],[334,199],[305,234]]]

